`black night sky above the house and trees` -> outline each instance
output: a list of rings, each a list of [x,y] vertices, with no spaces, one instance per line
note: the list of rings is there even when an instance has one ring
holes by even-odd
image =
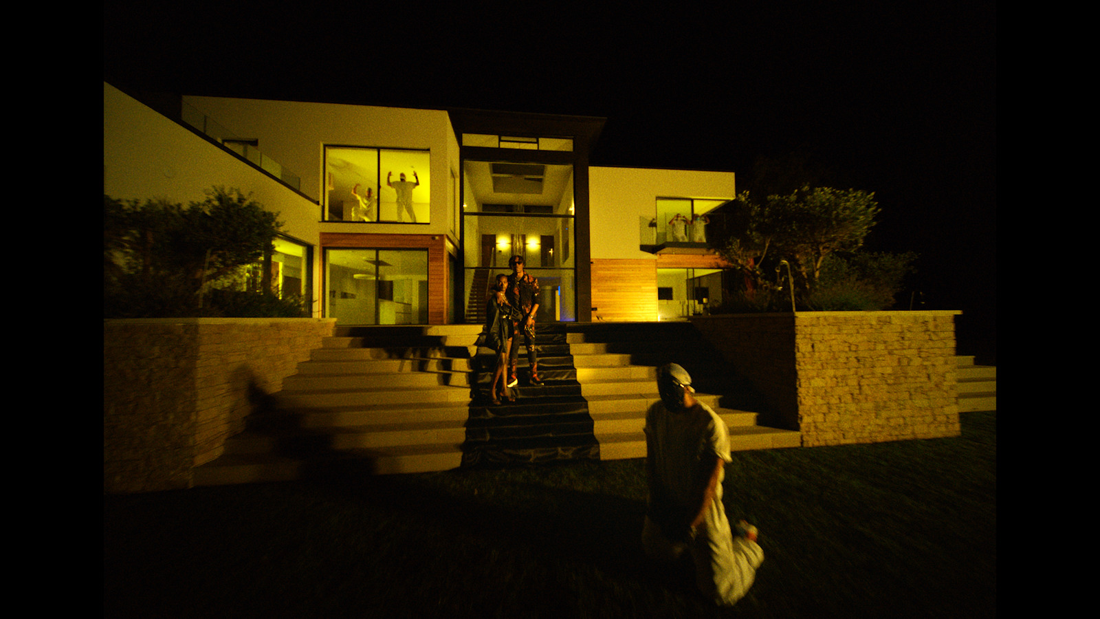
[[[105,6],[109,82],[600,116],[594,165],[748,174],[810,152],[836,185],[876,192],[868,246],[921,253],[930,308],[996,321],[992,1],[146,4]]]

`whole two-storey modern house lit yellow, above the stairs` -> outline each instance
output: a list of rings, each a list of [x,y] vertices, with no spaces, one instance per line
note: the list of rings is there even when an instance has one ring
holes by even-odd
[[[103,84],[103,193],[237,187],[279,214],[273,287],[341,325],[480,322],[524,256],[540,322],[721,302],[708,217],[730,172],[591,166],[604,119],[127,94]]]

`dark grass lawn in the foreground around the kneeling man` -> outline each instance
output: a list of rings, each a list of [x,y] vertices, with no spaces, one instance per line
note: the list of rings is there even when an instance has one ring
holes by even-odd
[[[634,459],[106,496],[105,617],[996,617],[997,417],[961,417],[734,453],[765,563],[733,609],[646,561]]]

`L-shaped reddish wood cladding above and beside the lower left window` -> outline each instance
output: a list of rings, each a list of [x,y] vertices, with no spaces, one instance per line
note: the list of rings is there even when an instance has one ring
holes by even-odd
[[[447,237],[443,235],[359,235],[321,232],[321,251],[328,248],[427,249],[428,324],[446,325],[451,303],[451,278],[448,273]]]

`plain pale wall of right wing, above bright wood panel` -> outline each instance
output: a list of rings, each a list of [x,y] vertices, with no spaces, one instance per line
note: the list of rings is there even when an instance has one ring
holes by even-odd
[[[588,203],[593,259],[651,259],[638,249],[639,221],[656,213],[658,197],[730,199],[733,172],[590,167]]]

